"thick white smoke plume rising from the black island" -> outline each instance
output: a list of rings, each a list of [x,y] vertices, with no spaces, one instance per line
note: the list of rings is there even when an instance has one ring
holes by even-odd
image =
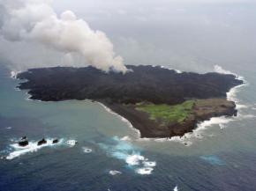
[[[82,55],[85,63],[100,70],[126,72],[105,33],[94,31],[72,11],[57,15],[51,0],[4,0],[1,35],[11,41],[31,41],[66,55]]]

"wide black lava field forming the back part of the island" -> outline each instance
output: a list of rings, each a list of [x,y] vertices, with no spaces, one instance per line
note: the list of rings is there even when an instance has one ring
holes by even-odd
[[[187,98],[226,98],[230,88],[243,84],[234,75],[177,73],[153,66],[126,67],[132,71],[106,73],[93,67],[31,69],[19,73],[19,79],[27,80],[19,88],[29,89],[31,99],[44,101],[103,99],[109,103],[148,101],[174,105]]]

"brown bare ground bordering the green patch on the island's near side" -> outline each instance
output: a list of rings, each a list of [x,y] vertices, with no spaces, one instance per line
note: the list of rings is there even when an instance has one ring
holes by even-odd
[[[133,104],[105,105],[131,121],[132,126],[139,129],[140,136],[147,138],[184,136],[185,133],[192,132],[200,121],[212,117],[237,115],[235,103],[226,99],[197,99],[191,114],[183,122],[169,121],[168,124],[162,124],[161,120],[151,120],[147,113],[139,111]]]

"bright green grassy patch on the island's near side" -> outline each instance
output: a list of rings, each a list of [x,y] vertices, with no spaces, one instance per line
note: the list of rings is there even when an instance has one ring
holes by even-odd
[[[177,121],[182,123],[192,112],[194,100],[184,101],[182,104],[175,106],[169,106],[166,104],[154,105],[154,104],[137,104],[136,109],[139,111],[147,112],[150,114],[151,120],[161,120],[164,123],[171,121]]]

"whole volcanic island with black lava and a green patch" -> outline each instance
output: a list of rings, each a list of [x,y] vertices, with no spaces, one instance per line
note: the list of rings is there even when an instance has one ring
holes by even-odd
[[[200,121],[236,116],[227,99],[231,88],[243,84],[231,74],[177,72],[151,65],[127,65],[126,73],[54,67],[19,73],[19,89],[30,99],[63,101],[91,99],[109,107],[139,129],[141,137],[184,136]]]

